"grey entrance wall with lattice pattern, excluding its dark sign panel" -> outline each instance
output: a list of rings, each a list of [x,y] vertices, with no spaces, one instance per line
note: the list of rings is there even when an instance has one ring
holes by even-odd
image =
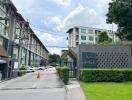
[[[78,50],[79,68],[84,68],[82,57],[83,52],[91,52],[96,54],[97,68],[132,67],[131,47],[129,46],[80,45]]]

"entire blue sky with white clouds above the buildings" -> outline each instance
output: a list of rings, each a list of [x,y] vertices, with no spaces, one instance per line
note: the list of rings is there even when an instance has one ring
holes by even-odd
[[[61,54],[66,49],[63,48],[68,46],[66,31],[73,26],[112,29],[112,25],[106,24],[111,0],[12,1],[51,54]]]

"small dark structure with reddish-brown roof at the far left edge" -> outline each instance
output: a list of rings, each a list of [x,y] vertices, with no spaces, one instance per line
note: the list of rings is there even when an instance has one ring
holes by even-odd
[[[0,46],[0,73],[2,79],[8,78],[8,54],[6,50]]]

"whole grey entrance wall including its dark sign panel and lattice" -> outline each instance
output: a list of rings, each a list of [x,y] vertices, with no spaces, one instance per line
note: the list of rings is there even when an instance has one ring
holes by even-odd
[[[79,45],[77,73],[81,68],[132,68],[130,45]],[[78,75],[78,74],[77,74]]]

